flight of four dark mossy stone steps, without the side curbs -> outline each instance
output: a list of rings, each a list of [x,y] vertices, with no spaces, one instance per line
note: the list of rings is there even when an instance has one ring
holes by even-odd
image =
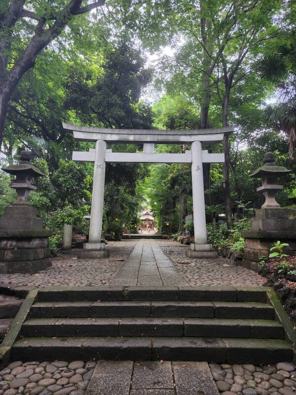
[[[12,360],[292,360],[267,289],[39,289]]]

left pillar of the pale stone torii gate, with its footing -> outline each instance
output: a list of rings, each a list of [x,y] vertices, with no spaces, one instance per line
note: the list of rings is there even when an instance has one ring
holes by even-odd
[[[91,199],[89,237],[88,243],[83,244],[83,250],[80,251],[78,254],[79,258],[106,258],[110,255],[109,250],[105,249],[105,243],[101,242],[106,169],[105,158],[106,141],[97,140]]]

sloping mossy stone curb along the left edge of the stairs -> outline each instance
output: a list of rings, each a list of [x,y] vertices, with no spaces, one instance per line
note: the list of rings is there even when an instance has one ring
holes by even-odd
[[[33,305],[37,297],[37,293],[38,293],[38,289],[33,289],[29,291],[20,310],[18,311],[17,315],[13,319],[6,336],[4,337],[4,340],[0,346],[0,368],[7,365],[7,363],[10,360],[11,347],[19,336],[22,325],[26,320],[30,312],[31,306]]]

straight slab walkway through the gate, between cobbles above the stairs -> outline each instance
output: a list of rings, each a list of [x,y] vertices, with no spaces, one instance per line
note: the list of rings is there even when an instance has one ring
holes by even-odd
[[[158,240],[140,239],[111,285],[186,285]]]

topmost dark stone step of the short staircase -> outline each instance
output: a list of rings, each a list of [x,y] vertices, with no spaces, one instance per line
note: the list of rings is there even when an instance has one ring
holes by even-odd
[[[138,259],[135,260],[138,262]],[[167,261],[168,264],[170,261]],[[167,264],[163,261],[163,267]],[[133,265],[133,259],[129,258]],[[170,264],[171,265],[171,264]],[[220,302],[265,302],[264,287],[145,287],[145,286],[101,286],[101,287],[46,287],[39,289],[38,302],[79,301],[220,301]]]

